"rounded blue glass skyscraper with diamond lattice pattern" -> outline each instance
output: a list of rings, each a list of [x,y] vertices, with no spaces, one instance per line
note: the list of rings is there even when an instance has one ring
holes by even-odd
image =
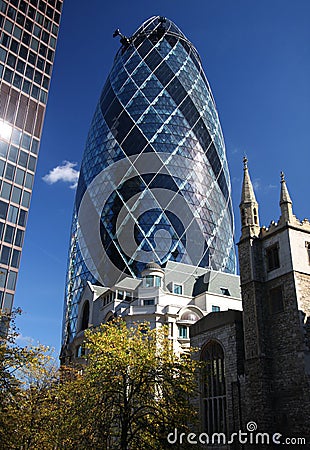
[[[152,17],[121,37],[77,187],[64,338],[87,281],[113,286],[168,260],[235,273],[223,134],[195,47]]]

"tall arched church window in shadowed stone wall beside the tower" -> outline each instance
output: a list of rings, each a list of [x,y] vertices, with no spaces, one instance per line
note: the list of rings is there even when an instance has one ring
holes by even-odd
[[[212,433],[226,433],[225,360],[222,346],[210,341],[202,350],[206,361],[203,373],[202,404],[204,429]]]

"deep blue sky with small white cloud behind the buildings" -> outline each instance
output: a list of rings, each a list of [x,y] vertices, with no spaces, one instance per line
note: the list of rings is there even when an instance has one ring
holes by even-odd
[[[286,174],[295,214],[300,219],[310,216],[308,0],[64,3],[15,296],[15,306],[24,311],[18,320],[21,341],[32,338],[53,346],[56,353],[60,349],[76,171],[97,100],[119,48],[118,39],[112,38],[116,28],[131,35],[147,18],[162,15],[173,20],[196,46],[225,137],[236,241],[245,154],[260,203],[261,225],[279,218],[281,170]],[[51,171],[52,176],[46,177]]]

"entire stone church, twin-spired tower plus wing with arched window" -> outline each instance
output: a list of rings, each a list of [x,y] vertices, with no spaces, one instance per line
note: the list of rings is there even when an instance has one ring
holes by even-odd
[[[243,318],[211,314],[190,330],[191,344],[211,368],[209,387],[202,388],[202,429],[268,433],[270,445],[274,433],[281,443],[310,442],[310,222],[293,214],[283,173],[280,209],[278,223],[260,227],[245,158],[238,244]]]

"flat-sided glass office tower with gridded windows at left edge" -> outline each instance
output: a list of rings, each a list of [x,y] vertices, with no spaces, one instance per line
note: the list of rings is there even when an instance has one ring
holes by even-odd
[[[0,308],[10,311],[62,0],[0,0]]]

